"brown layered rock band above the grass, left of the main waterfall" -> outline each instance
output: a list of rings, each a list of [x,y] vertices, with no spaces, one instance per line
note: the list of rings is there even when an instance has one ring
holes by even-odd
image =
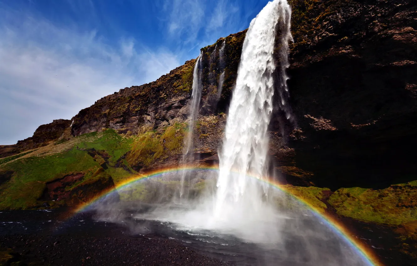
[[[241,46],[246,31],[219,39],[214,45],[202,48],[203,58],[203,100],[202,114],[216,114],[225,111],[230,93],[236,80]],[[220,69],[218,57],[221,45],[226,39],[226,78],[220,97],[217,93]],[[216,57],[216,58],[215,58]],[[75,116],[71,133],[79,136],[102,128],[113,128],[120,132],[137,133],[143,125],[158,128],[163,122],[174,118],[185,120],[187,103],[191,97],[193,68],[196,60],[163,75],[158,80],[131,88],[98,100]]]

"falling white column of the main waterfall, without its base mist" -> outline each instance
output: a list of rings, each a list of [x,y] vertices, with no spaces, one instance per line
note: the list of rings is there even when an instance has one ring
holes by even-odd
[[[288,68],[288,45],[279,46],[282,69],[277,73],[275,39],[280,30],[282,38],[288,43],[291,39],[290,19],[291,8],[286,0],[274,0],[252,20],[246,33],[224,143],[219,153],[215,216],[224,214],[225,202],[245,201],[249,211],[251,203],[261,198],[259,188],[246,177],[246,173],[257,178],[265,176],[269,144],[267,130],[273,109],[274,88],[288,90],[285,73]],[[280,75],[279,86],[274,84],[275,73]],[[281,105],[285,104],[282,100]],[[232,171],[239,174],[231,174]]]

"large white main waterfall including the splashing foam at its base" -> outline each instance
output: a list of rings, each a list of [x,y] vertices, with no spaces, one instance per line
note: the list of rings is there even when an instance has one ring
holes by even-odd
[[[252,20],[246,33],[236,87],[227,116],[224,143],[219,152],[217,190],[186,212],[156,211],[156,217],[179,228],[231,233],[256,243],[281,242],[284,218],[269,201],[257,178],[266,171],[267,129],[274,95],[274,48],[277,30],[289,32],[291,10],[286,1],[269,2]],[[288,56],[288,53],[286,53]],[[194,86],[198,71],[194,69]],[[285,79],[284,79],[285,80]],[[251,173],[256,178],[247,175]],[[184,176],[184,174],[183,174]],[[183,179],[182,179],[183,180]],[[183,183],[181,183],[183,188]]]

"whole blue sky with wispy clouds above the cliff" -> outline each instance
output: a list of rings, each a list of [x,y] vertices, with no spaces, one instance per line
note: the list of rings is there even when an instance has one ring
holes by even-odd
[[[0,0],[0,145],[156,80],[267,0]]]

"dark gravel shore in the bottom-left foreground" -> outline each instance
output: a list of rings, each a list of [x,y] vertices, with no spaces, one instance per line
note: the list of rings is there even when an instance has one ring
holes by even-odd
[[[7,235],[0,238],[3,251],[13,250],[14,261],[22,261],[19,265],[230,265],[159,237]]]

